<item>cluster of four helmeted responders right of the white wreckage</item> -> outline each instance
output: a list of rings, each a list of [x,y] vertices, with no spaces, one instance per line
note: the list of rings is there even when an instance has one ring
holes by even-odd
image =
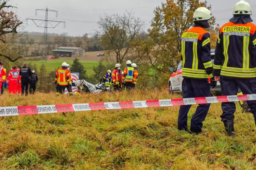
[[[121,64],[115,65],[115,70],[107,70],[106,75],[102,79],[102,84],[107,87],[114,87],[114,90],[133,89],[135,88],[138,80],[137,64],[132,63],[130,60],[126,61],[124,71],[121,70]]]

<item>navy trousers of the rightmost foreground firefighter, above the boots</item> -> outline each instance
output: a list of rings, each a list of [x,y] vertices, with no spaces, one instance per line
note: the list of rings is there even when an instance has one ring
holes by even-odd
[[[256,79],[229,79],[221,77],[221,94],[237,95],[238,87],[243,94],[256,94]],[[256,119],[256,100],[247,101],[249,108],[252,110],[254,119]],[[221,121],[235,119],[236,104],[235,102],[227,102],[221,104],[223,114],[220,116]]]

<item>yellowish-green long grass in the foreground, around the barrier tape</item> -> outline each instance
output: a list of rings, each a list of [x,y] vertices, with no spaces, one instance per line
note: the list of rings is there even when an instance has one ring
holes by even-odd
[[[0,106],[180,98],[134,90],[55,97],[1,95]],[[24,100],[27,99],[27,100]],[[178,106],[0,118],[0,169],[250,170],[256,166],[252,114],[235,113],[236,137],[225,135],[221,106],[212,104],[203,133],[177,130]],[[189,121],[196,106],[192,106]]]

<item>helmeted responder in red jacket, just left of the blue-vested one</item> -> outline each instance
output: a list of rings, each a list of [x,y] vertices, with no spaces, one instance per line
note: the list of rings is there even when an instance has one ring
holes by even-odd
[[[120,90],[122,88],[122,70],[121,64],[115,65],[115,70],[112,72],[112,82],[114,90]]]

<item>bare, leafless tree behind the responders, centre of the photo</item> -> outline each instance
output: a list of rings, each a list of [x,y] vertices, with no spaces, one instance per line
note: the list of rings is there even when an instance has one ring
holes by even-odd
[[[95,31],[94,37],[100,39],[104,50],[108,50],[105,56],[111,56],[114,52],[116,62],[122,63],[131,49],[130,42],[143,33],[145,23],[136,18],[133,12],[126,11],[122,16],[100,16],[98,25],[100,30]]]

